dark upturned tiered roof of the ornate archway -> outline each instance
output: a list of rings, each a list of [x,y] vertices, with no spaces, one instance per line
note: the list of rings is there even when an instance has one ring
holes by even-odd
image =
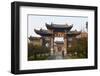
[[[52,33],[49,30],[53,30],[54,32],[65,32],[66,31],[68,36],[76,36],[76,35],[79,35],[81,33],[81,31],[78,32],[77,30],[70,31],[71,28],[73,27],[73,25],[69,26],[67,24],[61,25],[61,24],[52,24],[52,23],[47,24],[46,23],[46,27],[48,30],[44,30],[44,29],[36,30],[36,29],[34,29],[34,31],[41,36],[51,36]]]

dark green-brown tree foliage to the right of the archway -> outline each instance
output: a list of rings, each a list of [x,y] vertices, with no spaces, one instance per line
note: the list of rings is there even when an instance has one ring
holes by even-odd
[[[68,48],[68,52],[76,55],[78,58],[87,58],[88,56],[88,43],[87,38],[80,38],[77,40],[76,46]]]

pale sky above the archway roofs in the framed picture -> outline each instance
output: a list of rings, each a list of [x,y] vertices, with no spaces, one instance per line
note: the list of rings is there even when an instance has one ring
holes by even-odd
[[[34,29],[47,29],[45,23],[47,24],[68,24],[73,27],[71,30],[86,31],[86,22],[88,22],[88,17],[86,16],[50,16],[50,15],[34,15],[29,14],[27,17],[28,21],[28,37],[40,37],[34,32]]]

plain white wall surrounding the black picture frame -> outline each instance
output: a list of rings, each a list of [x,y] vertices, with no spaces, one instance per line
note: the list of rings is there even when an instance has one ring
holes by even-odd
[[[16,0],[17,1],[17,0]],[[30,2],[44,2],[44,3],[58,3],[58,4],[74,4],[74,5],[90,5],[98,6],[100,13],[100,0],[21,0]],[[10,73],[10,56],[11,56],[11,6],[10,3],[13,0],[0,0],[0,76],[14,76]],[[98,15],[98,21],[100,20],[100,14]],[[100,23],[98,23],[98,28]],[[100,33],[100,29],[99,29]],[[98,36],[100,42],[100,35]],[[100,43],[99,43],[100,44]],[[98,44],[98,45],[99,45]],[[100,50],[100,49],[98,49]],[[100,52],[99,52],[99,67],[100,67]],[[85,71],[65,71],[54,73],[40,73],[34,74],[34,76],[99,76],[100,68],[98,70],[85,70]],[[26,74],[31,76],[33,74]],[[23,76],[23,75],[21,75]]]

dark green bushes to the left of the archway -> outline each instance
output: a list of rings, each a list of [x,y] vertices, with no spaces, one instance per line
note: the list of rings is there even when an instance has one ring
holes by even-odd
[[[47,47],[28,44],[28,60],[43,60],[49,56],[49,53],[50,49]]]

